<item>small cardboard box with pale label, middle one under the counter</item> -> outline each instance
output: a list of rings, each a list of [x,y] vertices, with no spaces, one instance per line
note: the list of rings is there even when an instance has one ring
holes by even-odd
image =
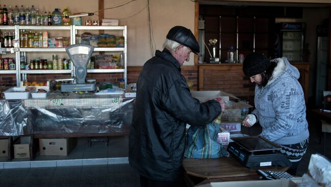
[[[14,158],[31,158],[31,136],[21,136],[14,144]]]

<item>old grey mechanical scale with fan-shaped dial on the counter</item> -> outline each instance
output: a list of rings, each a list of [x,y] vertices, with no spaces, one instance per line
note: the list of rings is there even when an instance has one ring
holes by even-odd
[[[95,91],[95,82],[85,82],[87,65],[93,50],[94,47],[87,44],[74,44],[66,47],[66,51],[74,66],[75,77],[73,83],[61,84],[61,91]]]

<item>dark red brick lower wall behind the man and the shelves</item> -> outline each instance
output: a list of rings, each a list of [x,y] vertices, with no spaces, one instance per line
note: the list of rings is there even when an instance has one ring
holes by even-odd
[[[127,68],[127,83],[135,83],[141,66],[131,66]],[[199,90],[198,67],[183,66],[181,71],[186,80],[192,81],[192,90]],[[112,81],[118,83],[122,79],[122,73],[89,73],[87,79],[97,79],[100,81]],[[70,74],[27,74],[29,82],[45,82],[50,79],[70,78]],[[241,70],[219,71],[206,70],[204,73],[204,86],[201,90],[223,90],[232,93],[240,99],[254,100],[254,84],[249,82],[248,78],[243,76]],[[16,76],[0,74],[0,86],[16,86]]]

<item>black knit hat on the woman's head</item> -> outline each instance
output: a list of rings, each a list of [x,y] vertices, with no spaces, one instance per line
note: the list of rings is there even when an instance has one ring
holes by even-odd
[[[253,52],[243,60],[242,71],[247,77],[264,72],[270,65],[270,60],[264,55]]]

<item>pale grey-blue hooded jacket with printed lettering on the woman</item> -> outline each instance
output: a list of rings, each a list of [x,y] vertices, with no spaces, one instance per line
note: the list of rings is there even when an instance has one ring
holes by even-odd
[[[272,79],[255,87],[253,114],[262,127],[261,136],[276,144],[295,144],[309,137],[304,91],[299,71],[286,57],[278,61]]]

